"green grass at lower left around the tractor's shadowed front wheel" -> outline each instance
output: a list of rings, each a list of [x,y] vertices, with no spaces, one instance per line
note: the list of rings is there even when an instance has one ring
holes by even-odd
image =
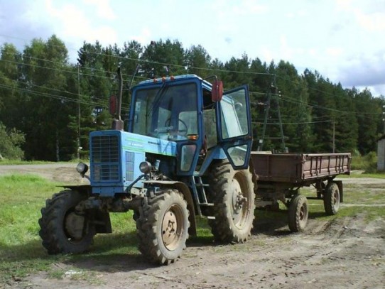
[[[58,268],[51,268],[53,263],[83,259],[113,263],[116,255],[139,254],[135,224],[127,212],[111,214],[114,233],[95,236],[91,253],[48,256],[38,235],[38,219],[45,200],[61,190],[56,185],[36,175],[0,177],[0,287],[12,276],[23,278],[38,271],[48,271],[52,278],[63,276]],[[87,279],[81,275],[74,278]]]

